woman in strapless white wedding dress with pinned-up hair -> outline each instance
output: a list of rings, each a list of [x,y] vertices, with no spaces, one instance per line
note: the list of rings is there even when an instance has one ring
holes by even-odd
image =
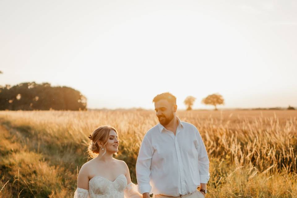
[[[74,198],[141,198],[127,164],[113,158],[118,152],[118,131],[102,126],[89,138],[88,152],[93,159],[80,169]]]

